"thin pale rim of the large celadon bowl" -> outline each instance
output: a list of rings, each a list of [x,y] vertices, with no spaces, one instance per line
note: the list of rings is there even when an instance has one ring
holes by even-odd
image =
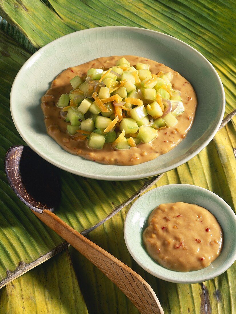
[[[37,56],[40,55],[42,52],[44,52],[45,50],[47,50],[47,48],[52,45],[52,43],[54,42],[60,42],[63,41],[65,38],[69,38],[71,35],[76,34],[78,32],[91,32],[91,31],[97,31],[97,29],[107,29],[107,30],[118,30],[118,29],[127,29],[127,30],[142,30],[148,33],[155,33],[155,34],[159,34],[160,36],[164,36],[164,37],[169,37],[174,41],[179,42],[180,44],[188,47],[188,49],[190,49],[191,51],[193,51],[195,54],[198,54],[200,57],[202,57],[205,62],[209,65],[209,67],[211,68],[212,72],[215,74],[215,77],[217,78],[217,83],[220,86],[220,92],[222,94],[222,108],[221,108],[221,114],[219,117],[218,122],[214,125],[213,130],[211,131],[211,133],[209,133],[207,139],[204,141],[204,143],[202,143],[198,149],[196,149],[194,152],[192,152],[191,154],[188,154],[188,156],[186,156],[184,159],[179,160],[178,162],[174,163],[173,165],[170,165],[168,167],[165,167],[161,170],[158,171],[147,171],[143,174],[135,174],[135,175],[122,175],[122,176],[115,176],[115,175],[104,175],[104,174],[95,174],[95,173],[85,173],[83,171],[77,171],[76,169],[72,169],[69,166],[66,165],[62,165],[60,163],[60,161],[56,161],[53,160],[52,157],[48,156],[47,154],[41,152],[40,149],[38,149],[36,147],[36,145],[34,143],[31,143],[30,141],[28,141],[27,136],[25,136],[24,132],[21,132],[21,127],[20,127],[20,123],[17,119],[17,115],[14,116],[14,105],[13,105],[13,93],[14,93],[14,88],[15,85],[17,84],[18,81],[18,77],[21,75],[21,73],[24,73],[25,68],[27,67],[28,64],[30,64],[32,62],[32,60]],[[220,109],[219,109],[220,111]],[[192,159],[193,157],[195,157],[197,154],[200,153],[200,151],[202,149],[204,149],[212,140],[212,138],[215,136],[215,134],[217,133],[222,120],[223,120],[223,116],[224,116],[224,112],[225,112],[225,92],[224,92],[224,88],[223,88],[223,84],[222,81],[217,73],[217,71],[215,70],[215,68],[213,67],[213,65],[211,64],[211,62],[209,62],[206,57],[204,57],[199,51],[197,51],[195,48],[193,48],[192,46],[190,46],[189,44],[186,44],[184,41],[179,40],[178,38],[175,38],[171,35],[167,35],[165,33],[162,32],[158,32],[155,30],[150,30],[150,29],[144,29],[141,27],[130,27],[130,26],[101,26],[101,27],[94,27],[94,28],[89,28],[89,29],[85,29],[85,30],[79,30],[79,31],[75,31],[73,33],[69,33],[67,35],[63,35],[57,39],[55,39],[54,41],[49,42],[48,44],[46,44],[45,46],[41,47],[39,50],[37,50],[24,64],[23,66],[20,68],[19,72],[17,73],[14,82],[12,84],[12,88],[11,88],[11,92],[10,92],[10,112],[11,112],[11,116],[14,122],[14,125],[18,131],[18,133],[20,134],[20,136],[23,138],[23,140],[30,146],[31,149],[33,149],[38,155],[40,155],[43,159],[47,160],[48,162],[50,162],[51,164],[57,166],[60,169],[63,169],[65,171],[68,171],[70,173],[79,175],[79,176],[84,176],[87,178],[91,178],[91,179],[97,179],[97,180],[106,180],[106,181],[128,181],[128,180],[137,180],[137,179],[144,179],[147,177],[152,177],[152,176],[157,176],[160,175],[162,173],[165,173],[167,171],[173,170],[175,168],[177,168],[180,165],[183,165],[184,163],[188,162],[190,159]],[[49,135],[48,135],[49,136]],[[83,158],[83,157],[81,157]],[[143,163],[145,164],[145,163]],[[119,167],[119,165],[110,165],[111,167],[117,166]],[[125,167],[129,167],[129,166],[125,166]]]

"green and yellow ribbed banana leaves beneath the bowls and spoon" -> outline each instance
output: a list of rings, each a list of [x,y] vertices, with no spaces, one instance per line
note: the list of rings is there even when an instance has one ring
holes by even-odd
[[[37,259],[36,264],[41,263],[40,256],[51,252],[43,258],[45,260],[66,247],[59,236],[18,200],[4,174],[7,149],[13,144],[23,144],[9,110],[11,84],[23,63],[39,47],[76,30],[124,25],[161,31],[190,44],[213,64],[224,85],[227,116],[235,112],[236,25],[233,16],[236,10],[234,2],[208,0],[50,0],[46,3],[1,0],[0,8],[5,19],[1,19],[0,42],[0,279],[3,280],[7,276],[16,277],[14,271],[26,270],[26,266]],[[170,183],[195,184],[217,193],[234,209],[235,128],[233,118],[200,154],[164,174],[153,187]],[[130,202],[135,193],[139,194],[155,182],[155,178],[104,182],[59,172],[64,189],[57,214],[80,231],[106,219],[114,208]],[[131,203],[91,231],[88,237],[147,280],[165,313],[234,313],[235,265],[203,284],[181,285],[156,279],[134,262],[123,240],[123,222],[130,206]],[[69,247],[3,287],[0,313],[132,314],[138,311],[112,282]]]

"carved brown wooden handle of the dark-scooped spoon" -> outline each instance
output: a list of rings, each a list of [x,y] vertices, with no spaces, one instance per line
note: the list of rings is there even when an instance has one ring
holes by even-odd
[[[155,292],[139,274],[82,236],[49,210],[43,210],[42,214],[35,211],[33,213],[111,279],[140,313],[164,314]]]

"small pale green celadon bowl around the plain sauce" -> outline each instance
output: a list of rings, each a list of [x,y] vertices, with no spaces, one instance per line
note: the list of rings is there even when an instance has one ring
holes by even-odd
[[[220,255],[210,266],[191,272],[178,272],[164,268],[145,250],[142,234],[152,210],[160,204],[184,202],[208,209],[223,230]],[[194,284],[215,278],[224,273],[236,258],[236,215],[218,195],[194,185],[170,184],[145,193],[129,209],[124,223],[124,239],[129,253],[148,273],[160,279],[182,284]]]

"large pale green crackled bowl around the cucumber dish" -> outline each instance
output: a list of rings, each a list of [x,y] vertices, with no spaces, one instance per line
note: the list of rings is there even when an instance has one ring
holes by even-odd
[[[136,55],[164,63],[190,81],[198,98],[195,121],[186,138],[167,154],[140,165],[102,165],[72,155],[47,135],[43,121],[41,97],[59,73],[113,55]],[[225,95],[211,63],[183,41],[153,30],[109,26],[74,32],[39,49],[14,80],[10,109],[21,137],[53,165],[94,179],[135,180],[172,170],[198,154],[222,122]]]

